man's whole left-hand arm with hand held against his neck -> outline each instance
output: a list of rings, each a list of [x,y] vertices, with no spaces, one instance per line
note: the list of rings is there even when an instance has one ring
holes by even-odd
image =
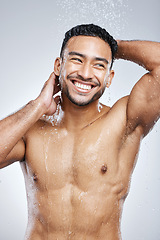
[[[58,98],[53,99],[53,95],[59,91],[57,85],[56,76],[52,73],[36,100],[0,121],[0,168],[23,160],[23,136],[43,114],[52,115],[56,111]]]

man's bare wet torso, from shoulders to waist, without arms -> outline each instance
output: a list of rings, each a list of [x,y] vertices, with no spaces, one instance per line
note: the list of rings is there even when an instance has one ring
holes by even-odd
[[[26,134],[27,240],[120,240],[141,134],[126,134],[126,100],[80,131],[38,121]]]

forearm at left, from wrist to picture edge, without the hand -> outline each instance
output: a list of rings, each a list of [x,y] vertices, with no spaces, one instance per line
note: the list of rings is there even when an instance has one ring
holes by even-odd
[[[0,161],[3,161],[27,130],[42,116],[39,100],[0,121]]]

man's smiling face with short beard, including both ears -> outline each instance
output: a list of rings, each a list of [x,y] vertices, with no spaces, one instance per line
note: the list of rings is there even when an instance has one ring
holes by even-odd
[[[78,106],[99,99],[109,87],[114,72],[109,45],[98,37],[72,37],[64,50],[62,61],[55,61],[55,74],[59,75],[62,96]]]

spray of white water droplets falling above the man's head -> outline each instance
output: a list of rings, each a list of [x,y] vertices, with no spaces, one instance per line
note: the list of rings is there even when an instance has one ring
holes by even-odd
[[[77,25],[82,22],[93,22],[102,27],[109,28],[107,31],[112,31],[118,35],[124,29],[124,16],[129,11],[126,1],[123,0],[102,0],[101,4],[94,0],[61,0],[57,1],[57,7],[61,8],[63,15],[57,19],[58,25],[68,30],[68,26]],[[92,12],[92,14],[90,14]],[[65,21],[67,16],[67,22]],[[74,19],[74,22],[73,22]],[[58,29],[63,32],[62,29]]]

